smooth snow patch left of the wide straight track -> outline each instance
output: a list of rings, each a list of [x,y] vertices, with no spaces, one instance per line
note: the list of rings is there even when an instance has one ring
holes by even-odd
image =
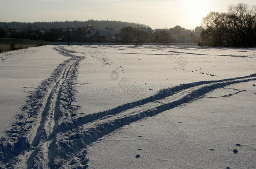
[[[31,91],[48,78],[67,57],[41,46],[0,53],[0,137],[13,123]]]

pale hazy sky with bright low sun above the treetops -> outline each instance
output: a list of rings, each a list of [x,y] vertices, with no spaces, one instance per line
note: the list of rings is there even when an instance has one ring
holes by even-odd
[[[210,11],[255,0],[1,0],[0,21],[120,20],[151,28],[195,28]]]

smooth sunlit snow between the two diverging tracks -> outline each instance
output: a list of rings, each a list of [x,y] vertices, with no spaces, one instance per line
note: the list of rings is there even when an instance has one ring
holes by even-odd
[[[247,76],[256,70],[255,48],[85,45],[71,46],[68,49],[77,51],[76,55],[87,56],[80,64],[77,84],[79,92],[76,95],[77,103],[81,106],[80,113],[84,114],[140,100],[152,96],[160,89],[182,83]],[[109,58],[110,65],[104,65],[101,60],[95,58],[103,56]],[[179,57],[187,61],[183,68],[178,64]],[[146,77],[151,77],[151,83],[145,81]],[[123,78],[130,82],[131,86],[138,87],[141,95],[131,96],[128,92],[120,91],[118,84],[122,83]]]

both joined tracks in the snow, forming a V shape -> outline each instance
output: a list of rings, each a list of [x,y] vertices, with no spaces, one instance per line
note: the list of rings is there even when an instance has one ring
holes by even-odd
[[[75,81],[78,57],[64,47],[53,48],[70,57],[31,92],[22,113],[0,139],[0,168],[87,168],[86,146],[122,126],[154,116],[206,93],[234,83],[255,81],[256,74],[217,81],[180,84],[106,111],[76,118]],[[239,93],[239,92],[238,92]]]

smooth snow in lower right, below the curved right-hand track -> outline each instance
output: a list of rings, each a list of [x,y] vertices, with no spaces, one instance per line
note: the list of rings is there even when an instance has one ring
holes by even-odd
[[[86,149],[89,168],[255,168],[253,82],[219,88],[102,137]],[[225,96],[234,89],[246,91]]]

